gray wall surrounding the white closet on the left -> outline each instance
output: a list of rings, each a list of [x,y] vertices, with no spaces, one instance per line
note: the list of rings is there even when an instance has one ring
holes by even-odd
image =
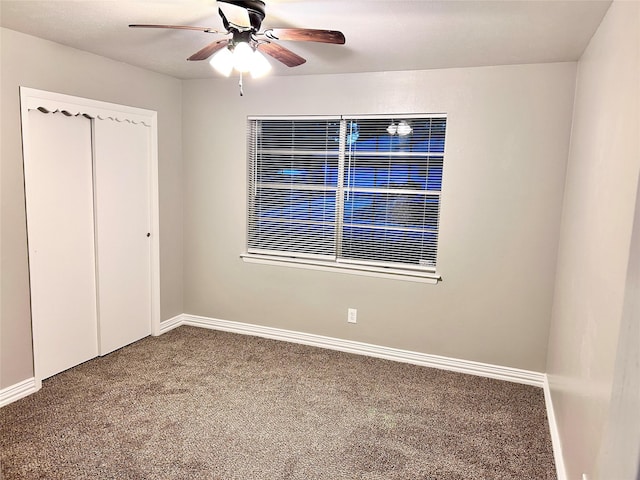
[[[4,388],[33,376],[18,87],[158,111],[163,319],[183,312],[182,110],[179,80],[11,30],[1,29],[0,35],[0,388]]]

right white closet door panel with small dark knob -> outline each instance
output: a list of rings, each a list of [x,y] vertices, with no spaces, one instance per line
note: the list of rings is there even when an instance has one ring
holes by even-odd
[[[151,333],[149,127],[96,119],[100,355]]]

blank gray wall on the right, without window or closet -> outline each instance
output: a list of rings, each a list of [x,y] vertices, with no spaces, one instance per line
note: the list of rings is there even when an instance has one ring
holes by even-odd
[[[629,415],[622,412],[628,422],[638,418],[619,401],[625,381],[614,383],[614,366],[625,291],[638,291],[627,270],[640,170],[639,32],[640,3],[614,2],[578,68],[547,365],[570,479],[582,473],[598,478],[599,450],[608,448],[601,447],[605,431],[619,435],[619,425],[607,427],[618,417],[615,408],[629,408]],[[633,332],[628,322],[637,322],[635,315],[624,335]],[[635,350],[626,352],[620,343],[619,368],[624,355],[637,358],[640,342],[631,341]],[[610,454],[607,465],[629,452]],[[600,478],[631,477],[604,472]]]

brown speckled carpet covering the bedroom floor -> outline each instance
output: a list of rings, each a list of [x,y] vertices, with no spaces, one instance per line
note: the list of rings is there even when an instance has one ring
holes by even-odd
[[[555,478],[539,388],[193,327],[0,422],[4,480]]]

